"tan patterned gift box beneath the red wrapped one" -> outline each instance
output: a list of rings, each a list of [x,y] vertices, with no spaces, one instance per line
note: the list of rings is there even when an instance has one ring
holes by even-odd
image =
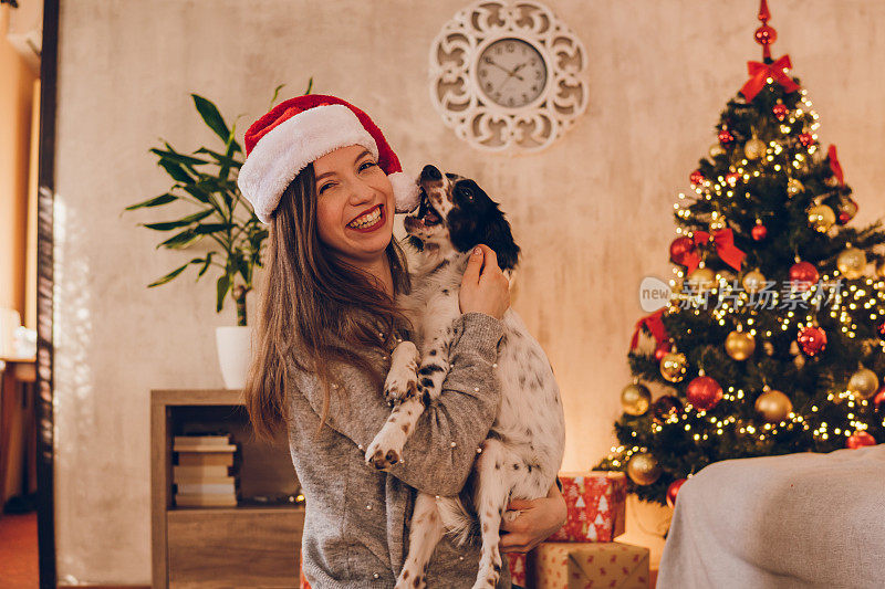
[[[617,541],[543,543],[529,553],[532,589],[648,589],[648,548]]]

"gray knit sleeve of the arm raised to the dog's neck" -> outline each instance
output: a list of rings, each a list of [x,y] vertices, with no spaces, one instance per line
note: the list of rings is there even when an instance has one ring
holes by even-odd
[[[460,492],[501,400],[492,365],[503,335],[502,322],[471,312],[456,318],[452,327],[454,364],[442,382],[442,395],[418,420],[403,449],[403,462],[389,470],[418,491],[442,496]],[[391,416],[391,408],[382,391],[357,375],[356,370],[346,372],[346,390],[332,391],[326,424],[354,442],[354,451],[362,453]],[[353,378],[346,378],[350,376]],[[296,389],[313,411],[322,414],[323,391],[316,376],[296,371],[295,378]]]

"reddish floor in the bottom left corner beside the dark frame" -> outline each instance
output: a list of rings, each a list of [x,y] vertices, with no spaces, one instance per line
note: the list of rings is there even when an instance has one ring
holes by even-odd
[[[39,587],[37,512],[0,515],[0,570],[3,589]]]

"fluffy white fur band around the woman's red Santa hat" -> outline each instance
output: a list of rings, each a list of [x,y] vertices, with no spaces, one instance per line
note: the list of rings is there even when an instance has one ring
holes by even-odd
[[[361,145],[378,157],[375,139],[343,104],[314,106],[268,132],[246,158],[237,185],[262,223],[309,164],[340,147]]]

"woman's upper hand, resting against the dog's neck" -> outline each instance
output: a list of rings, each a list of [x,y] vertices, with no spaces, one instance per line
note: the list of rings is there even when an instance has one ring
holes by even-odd
[[[477,245],[470,253],[458,305],[461,313],[479,312],[499,319],[510,306],[510,283],[498,267],[498,255],[488,245]]]

